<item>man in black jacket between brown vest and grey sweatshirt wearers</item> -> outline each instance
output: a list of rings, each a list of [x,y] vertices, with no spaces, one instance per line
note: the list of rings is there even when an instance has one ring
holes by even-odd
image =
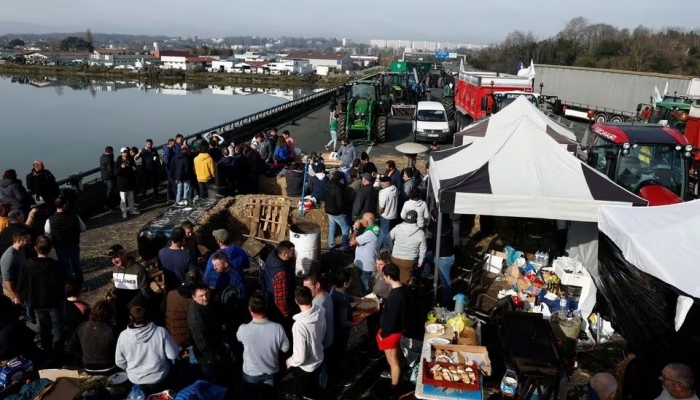
[[[209,288],[195,284],[192,290],[193,303],[187,313],[187,326],[192,335],[192,344],[197,364],[204,379],[216,383],[219,378],[219,362],[225,357],[223,320],[210,305]]]

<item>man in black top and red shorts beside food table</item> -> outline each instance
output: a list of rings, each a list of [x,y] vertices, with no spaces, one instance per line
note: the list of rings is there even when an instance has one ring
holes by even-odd
[[[393,264],[384,267],[384,279],[391,286],[391,292],[379,317],[379,332],[377,332],[377,347],[384,351],[389,363],[391,388],[396,391],[401,377],[399,362],[399,342],[406,329],[406,313],[408,312],[409,290],[400,281],[399,268]]]

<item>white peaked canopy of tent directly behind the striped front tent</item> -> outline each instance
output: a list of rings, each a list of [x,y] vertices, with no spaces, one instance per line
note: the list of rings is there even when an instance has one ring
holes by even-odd
[[[542,111],[535,107],[534,104],[530,103],[522,96],[515,99],[507,107],[503,108],[501,111],[492,115],[488,119],[469,125],[461,132],[455,133],[454,145],[461,146],[463,144],[483,139],[491,132],[498,131],[509,125],[514,120],[523,116],[527,116],[532,119],[557,143],[561,144],[569,151],[572,151],[572,149],[575,151],[577,142],[574,133],[564,126],[552,121]]]

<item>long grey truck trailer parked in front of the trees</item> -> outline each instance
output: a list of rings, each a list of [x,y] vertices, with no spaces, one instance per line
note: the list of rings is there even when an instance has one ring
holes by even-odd
[[[687,93],[692,77],[598,68],[536,65],[537,85],[561,101],[562,115],[593,122],[638,120],[639,105],[651,103],[654,88]],[[589,110],[592,111],[589,114]]]

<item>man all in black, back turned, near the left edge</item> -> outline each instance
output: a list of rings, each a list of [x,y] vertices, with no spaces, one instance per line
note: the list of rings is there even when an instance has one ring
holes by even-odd
[[[65,343],[61,306],[66,272],[61,263],[49,257],[51,247],[48,237],[37,238],[37,257],[27,260],[17,286],[36,313],[41,347],[48,354],[60,356]]]

